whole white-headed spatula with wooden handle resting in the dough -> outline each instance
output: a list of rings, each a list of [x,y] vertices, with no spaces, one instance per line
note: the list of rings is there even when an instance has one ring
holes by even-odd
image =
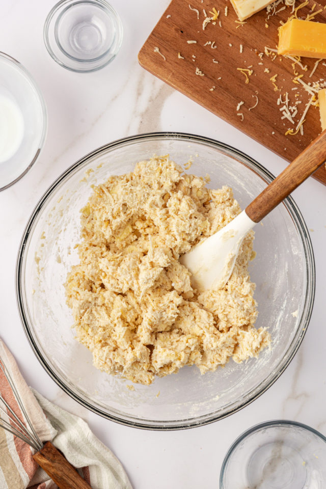
[[[221,288],[229,280],[244,236],[326,160],[326,130],[219,232],[180,257],[199,291]]]

